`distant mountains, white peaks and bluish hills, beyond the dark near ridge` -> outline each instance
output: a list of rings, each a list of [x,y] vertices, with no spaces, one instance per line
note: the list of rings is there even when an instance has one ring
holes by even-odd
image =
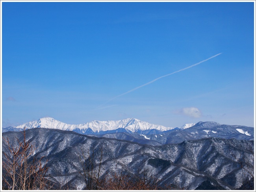
[[[163,145],[181,143],[183,141],[202,138],[224,138],[239,140],[254,140],[254,128],[240,125],[221,125],[216,122],[199,121],[187,123],[182,127],[164,127],[147,123],[135,118],[118,121],[91,121],[79,125],[69,125],[54,118],[41,118],[37,121],[19,125],[17,127],[3,128],[2,132],[20,131],[26,129],[46,128],[65,131],[74,131],[79,134],[124,139],[148,145]]]

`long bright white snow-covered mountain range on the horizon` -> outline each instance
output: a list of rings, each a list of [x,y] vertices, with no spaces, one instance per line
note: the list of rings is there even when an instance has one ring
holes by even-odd
[[[141,120],[134,118],[128,118],[118,121],[91,121],[89,123],[83,123],[79,125],[69,125],[61,121],[55,120],[54,118],[41,118],[37,121],[31,121],[23,125],[19,125],[16,128],[48,128],[48,129],[61,129],[61,130],[80,130],[79,132],[85,133],[88,129],[91,129],[93,132],[102,132],[108,130],[116,130],[123,128],[128,132],[141,132],[144,130],[156,129],[160,131],[171,130],[173,127],[164,127],[161,125],[155,125],[147,123]]]

